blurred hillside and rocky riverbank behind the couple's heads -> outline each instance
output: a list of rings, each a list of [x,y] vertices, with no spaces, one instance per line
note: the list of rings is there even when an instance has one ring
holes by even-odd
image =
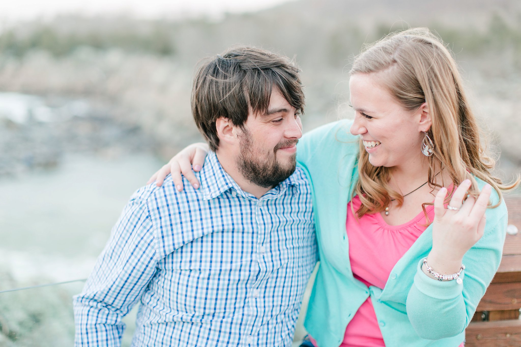
[[[518,165],[520,2],[302,0],[219,19],[65,16],[7,26],[0,91],[43,100],[24,100],[27,109],[15,111],[5,105],[9,95],[0,95],[0,175],[55,165],[64,150],[141,148],[166,160],[200,139],[190,113],[196,62],[232,44],[295,57],[306,128],[345,117],[351,57],[364,43],[417,26],[435,30],[452,49],[493,145]]]

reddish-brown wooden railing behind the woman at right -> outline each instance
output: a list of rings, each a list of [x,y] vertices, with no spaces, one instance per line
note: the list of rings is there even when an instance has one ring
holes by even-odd
[[[508,225],[498,272],[466,330],[466,347],[521,346],[521,198],[506,199]]]

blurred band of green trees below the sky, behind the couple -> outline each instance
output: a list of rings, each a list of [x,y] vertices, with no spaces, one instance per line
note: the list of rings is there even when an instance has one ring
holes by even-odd
[[[103,21],[95,25],[94,20],[80,18],[78,25],[64,27],[60,24],[57,19],[51,23],[32,23],[23,30],[19,27],[5,30],[0,34],[0,54],[23,57],[32,50],[45,50],[55,57],[63,57],[79,47],[88,46],[168,56],[193,66],[193,61],[201,56],[242,43],[263,46],[289,56],[298,55],[302,66],[315,67],[319,61],[322,68],[341,69],[364,43],[378,40],[396,29],[395,24],[385,20],[374,23],[371,30],[364,30],[356,22],[338,18],[322,25],[321,21],[310,22],[300,17],[282,21],[254,14],[228,15],[222,21],[125,19],[115,20],[110,25]],[[463,28],[437,23],[435,19],[422,25],[438,32],[453,52],[461,53],[463,57],[508,52],[512,68],[521,68],[519,21],[507,21],[498,13],[492,13],[487,23],[471,21]]]

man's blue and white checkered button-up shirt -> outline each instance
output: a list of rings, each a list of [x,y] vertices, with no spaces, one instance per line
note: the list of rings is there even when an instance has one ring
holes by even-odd
[[[74,298],[76,346],[119,346],[138,301],[132,346],[291,346],[317,261],[303,170],[260,199],[213,152],[196,175],[134,193]]]

